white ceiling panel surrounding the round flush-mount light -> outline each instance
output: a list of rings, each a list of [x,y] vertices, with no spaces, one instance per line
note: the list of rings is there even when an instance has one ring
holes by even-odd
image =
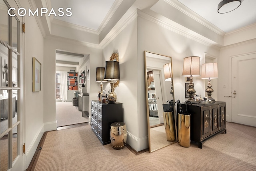
[[[256,0],[242,0],[234,11],[219,14],[221,0],[178,0],[224,32],[230,32],[256,22]]]

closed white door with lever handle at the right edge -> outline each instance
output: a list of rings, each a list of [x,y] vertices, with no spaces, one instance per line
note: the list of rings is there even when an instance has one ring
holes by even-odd
[[[232,122],[256,126],[256,53],[232,58]]]

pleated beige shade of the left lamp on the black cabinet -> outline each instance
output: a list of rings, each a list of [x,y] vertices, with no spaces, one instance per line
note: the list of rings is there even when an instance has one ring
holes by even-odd
[[[198,77],[200,76],[200,57],[190,56],[184,58],[183,72],[184,77]]]

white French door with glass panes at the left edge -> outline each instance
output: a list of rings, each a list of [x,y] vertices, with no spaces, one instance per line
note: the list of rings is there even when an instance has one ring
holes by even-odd
[[[23,165],[23,34],[14,0],[0,0],[0,170],[24,170]],[[8,11],[9,14],[8,15]],[[12,16],[13,15],[13,16]]]

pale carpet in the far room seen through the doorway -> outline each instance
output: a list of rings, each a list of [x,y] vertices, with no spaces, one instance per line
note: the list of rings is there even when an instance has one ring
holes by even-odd
[[[88,116],[82,116],[72,102],[56,102],[57,127],[88,122]]]

